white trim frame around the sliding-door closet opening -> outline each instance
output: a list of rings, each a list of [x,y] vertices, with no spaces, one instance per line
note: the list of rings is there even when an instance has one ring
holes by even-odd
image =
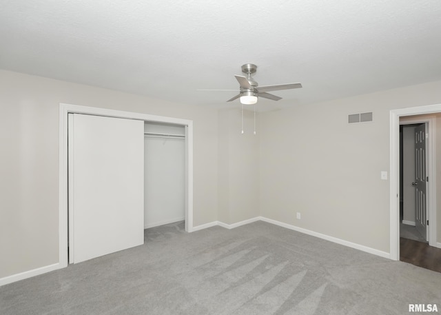
[[[68,266],[68,114],[90,114],[185,127],[185,231],[193,232],[193,121],[83,105],[59,105],[59,263]],[[144,224],[144,223],[143,223]]]

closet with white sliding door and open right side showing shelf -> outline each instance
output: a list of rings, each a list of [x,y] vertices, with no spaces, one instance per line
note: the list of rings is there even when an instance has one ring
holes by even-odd
[[[68,114],[68,260],[142,245],[185,219],[185,127]]]

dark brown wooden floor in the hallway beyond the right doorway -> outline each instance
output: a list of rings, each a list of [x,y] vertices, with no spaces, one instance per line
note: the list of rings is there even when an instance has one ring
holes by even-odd
[[[401,237],[400,261],[441,272],[441,248]]]

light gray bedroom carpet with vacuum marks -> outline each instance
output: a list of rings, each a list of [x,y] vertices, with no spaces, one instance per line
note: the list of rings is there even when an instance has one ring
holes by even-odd
[[[441,274],[269,223],[187,234],[0,287],[0,314],[407,314]]]

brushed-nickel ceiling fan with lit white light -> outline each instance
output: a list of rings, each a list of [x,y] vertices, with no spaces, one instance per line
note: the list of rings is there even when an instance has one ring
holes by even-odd
[[[240,75],[234,76],[240,85],[240,92],[236,96],[229,99],[227,102],[231,102],[235,99],[240,98],[240,103],[249,105],[257,103],[258,97],[278,101],[282,98],[274,94],[269,94],[268,92],[302,88],[302,85],[300,83],[258,86],[258,83],[252,78],[252,74],[256,73],[256,70],[257,65],[254,65],[252,63],[245,63],[245,65],[242,66],[242,72],[247,74],[247,77],[243,77]]]

